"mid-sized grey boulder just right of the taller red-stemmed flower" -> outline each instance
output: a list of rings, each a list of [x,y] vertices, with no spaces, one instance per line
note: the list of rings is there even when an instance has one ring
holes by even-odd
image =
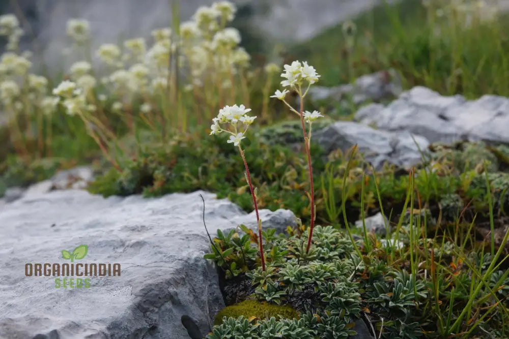
[[[326,152],[338,148],[346,151],[357,144],[364,159],[370,162],[375,169],[380,169],[385,162],[409,168],[421,161],[421,151],[426,153],[429,146],[428,140],[419,135],[406,131],[375,130],[352,121],[334,122],[334,124],[315,132],[314,138]]]

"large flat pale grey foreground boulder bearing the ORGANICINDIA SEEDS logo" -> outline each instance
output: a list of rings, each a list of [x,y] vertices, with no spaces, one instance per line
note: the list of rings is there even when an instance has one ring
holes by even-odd
[[[183,316],[208,333],[224,303],[217,271],[203,258],[210,244],[199,194],[205,199],[205,222],[212,236],[217,229],[227,231],[241,223],[256,227],[254,212],[203,191],[151,199],[39,191],[4,203],[0,337],[189,338]],[[288,210],[260,214],[267,228],[282,231],[296,225]],[[120,274],[55,273],[53,264],[64,267],[71,260],[75,265],[97,264],[99,273],[100,264],[111,264],[110,273],[120,264]],[[38,263],[51,264],[56,275],[34,276]],[[30,267],[32,272],[25,272]],[[83,273],[83,266],[80,269]],[[45,266],[41,272],[51,274]]]

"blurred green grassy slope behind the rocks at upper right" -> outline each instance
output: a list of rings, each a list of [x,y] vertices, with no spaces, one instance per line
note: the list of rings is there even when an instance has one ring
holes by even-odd
[[[423,5],[428,4],[428,5]],[[322,85],[394,68],[406,88],[509,96],[508,14],[489,2],[382,3],[289,49],[321,70]]]

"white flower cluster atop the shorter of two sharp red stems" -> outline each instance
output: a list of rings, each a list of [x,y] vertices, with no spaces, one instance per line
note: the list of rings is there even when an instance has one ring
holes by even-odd
[[[250,108],[246,108],[244,105],[233,105],[224,106],[219,110],[217,117],[212,119],[212,126],[210,126],[210,135],[219,134],[221,132],[227,132],[231,134],[228,143],[233,143],[234,146],[238,146],[247,128],[253,123],[256,116],[248,116],[246,113],[250,112]],[[221,125],[225,128],[222,128]],[[233,131],[231,131],[233,129]]]

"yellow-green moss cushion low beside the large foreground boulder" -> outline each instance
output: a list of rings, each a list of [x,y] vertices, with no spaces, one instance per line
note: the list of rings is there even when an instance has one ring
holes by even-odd
[[[238,318],[244,316],[244,318],[270,318],[281,316],[286,319],[299,319],[300,315],[290,305],[274,305],[266,302],[259,302],[257,300],[245,300],[241,303],[232,306],[226,306],[224,309],[217,313],[214,320],[214,325],[220,325],[223,317]]]

